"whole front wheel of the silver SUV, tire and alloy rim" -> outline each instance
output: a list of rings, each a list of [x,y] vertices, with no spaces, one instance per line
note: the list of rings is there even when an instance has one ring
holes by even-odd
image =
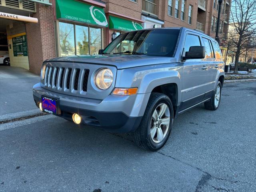
[[[135,143],[145,150],[156,151],[170,136],[173,106],[168,96],[152,93],[138,129],[132,133]]]

